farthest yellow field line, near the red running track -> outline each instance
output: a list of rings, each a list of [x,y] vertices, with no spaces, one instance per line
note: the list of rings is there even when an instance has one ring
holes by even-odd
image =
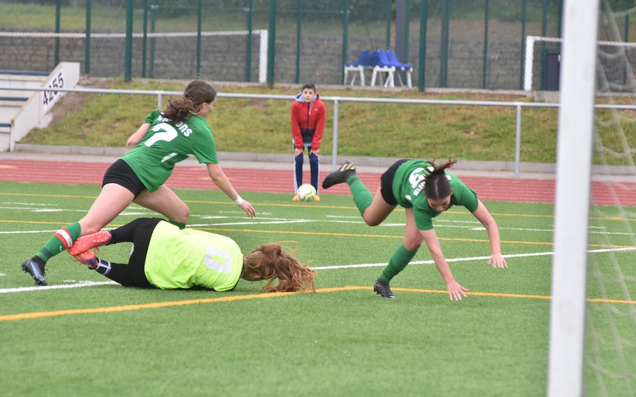
[[[73,196],[70,194],[34,194],[34,193],[0,193],[0,196],[38,196],[38,197],[64,197],[64,198],[95,198],[95,196]],[[230,201],[205,201],[205,200],[184,200],[185,203],[196,204],[222,204],[222,205],[234,205]],[[320,204],[284,204],[284,203],[252,203],[252,205],[261,205],[263,207],[303,207],[303,208],[320,208],[320,209],[338,209],[338,210],[357,210],[356,207],[350,205],[320,205]],[[403,208],[396,208],[394,211],[404,211]],[[472,215],[470,212],[465,211],[447,211],[447,214],[453,215]],[[547,214],[509,214],[505,212],[493,212],[491,215],[498,217],[530,217],[530,218],[554,218],[554,215]],[[628,217],[590,217],[589,219],[595,220],[609,220],[609,221],[630,221],[636,222],[636,218]]]

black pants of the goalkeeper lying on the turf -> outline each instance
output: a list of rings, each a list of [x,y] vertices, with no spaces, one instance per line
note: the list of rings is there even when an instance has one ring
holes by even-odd
[[[155,226],[162,219],[139,218],[122,227],[110,231],[110,243],[117,244],[124,241],[133,243],[133,252],[128,259],[128,264],[110,264],[110,272],[105,276],[124,287],[155,288],[148,282],[144,272],[144,264],[150,245],[150,237]],[[101,272],[100,272],[101,273]]]

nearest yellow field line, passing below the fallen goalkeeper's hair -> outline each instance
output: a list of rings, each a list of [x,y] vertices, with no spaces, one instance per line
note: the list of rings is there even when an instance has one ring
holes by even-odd
[[[346,287],[331,287],[331,288],[319,288],[316,290],[318,294],[328,294],[330,292],[338,291],[359,291],[370,290],[373,287],[362,287],[349,285]],[[393,288],[393,291],[400,292],[416,292],[419,294],[448,294],[448,291],[441,289],[419,289],[419,288]],[[0,316],[0,322],[9,322],[25,319],[41,319],[45,317],[59,317],[70,315],[87,315],[94,313],[113,313],[113,312],[130,312],[134,310],[145,309],[157,309],[157,308],[171,308],[174,306],[186,306],[186,305],[201,305],[203,303],[215,303],[215,302],[233,302],[233,301],[247,301],[251,299],[263,299],[263,298],[277,298],[279,296],[300,295],[300,294],[312,294],[311,292],[273,292],[270,294],[250,294],[250,295],[235,295],[235,296],[222,296],[220,298],[205,298],[205,299],[189,299],[187,301],[168,301],[168,302],[153,302],[153,303],[140,303],[138,305],[122,305],[122,306],[108,306],[106,308],[87,308],[87,309],[67,309],[67,310],[54,310],[50,312],[31,312],[31,313],[18,313],[15,315],[3,315]],[[469,296],[493,296],[498,298],[519,298],[519,299],[542,299],[551,300],[551,296],[544,295],[527,295],[527,294],[504,294],[496,292],[468,292]],[[588,302],[593,303],[621,303],[625,305],[636,305],[636,301],[620,301],[618,299],[600,299],[591,298],[587,299]]]

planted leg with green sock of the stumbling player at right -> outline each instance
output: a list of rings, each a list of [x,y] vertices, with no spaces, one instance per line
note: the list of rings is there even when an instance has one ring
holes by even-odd
[[[417,250],[419,250],[423,240],[415,224],[413,208],[405,208],[405,212],[406,227],[403,244],[398,247],[396,252],[393,252],[389,265],[382,270],[382,275],[375,281],[375,286],[373,287],[375,292],[384,296],[384,298],[395,298],[395,294],[389,288],[389,282],[409,264],[415,254],[417,254]]]

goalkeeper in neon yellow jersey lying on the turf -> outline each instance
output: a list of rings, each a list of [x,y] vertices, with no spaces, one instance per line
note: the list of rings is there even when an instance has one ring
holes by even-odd
[[[133,243],[128,264],[104,261],[91,251],[122,242]],[[68,252],[124,287],[231,291],[240,280],[267,280],[266,292],[314,289],[314,270],[278,244],[261,245],[244,258],[229,237],[179,229],[158,218],[135,219],[112,231],[82,236]]]

